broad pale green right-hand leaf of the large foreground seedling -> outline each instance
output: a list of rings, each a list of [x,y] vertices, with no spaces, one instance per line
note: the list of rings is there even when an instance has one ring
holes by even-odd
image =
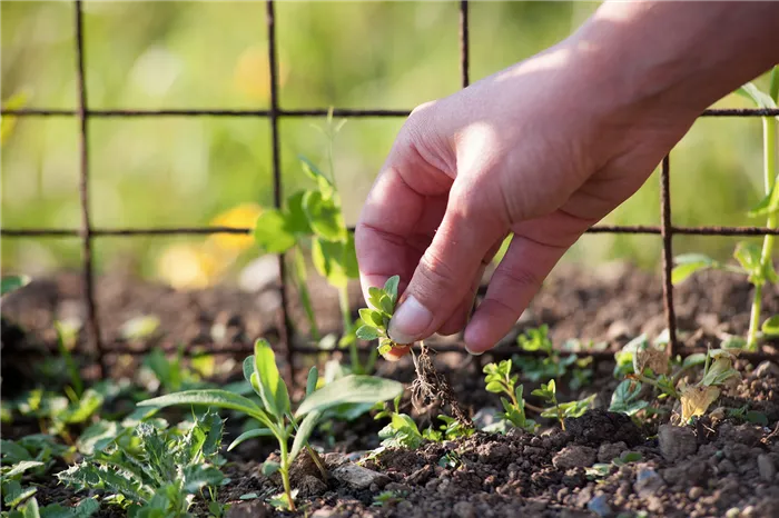
[[[403,394],[403,383],[374,376],[351,375],[325,385],[308,396],[298,407],[295,416],[345,402],[387,401]]]

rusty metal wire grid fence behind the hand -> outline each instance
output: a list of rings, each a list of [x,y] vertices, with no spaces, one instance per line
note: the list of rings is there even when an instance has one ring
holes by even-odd
[[[276,51],[276,0],[266,0],[266,23],[268,33],[268,68],[270,80],[270,107],[267,110],[220,110],[220,109],[177,109],[177,110],[93,110],[89,108],[87,86],[85,81],[85,52],[83,52],[83,8],[82,0],[73,0],[73,14],[76,23],[76,68],[78,86],[78,106],[75,110],[61,109],[37,109],[27,108],[19,110],[0,110],[3,116],[16,117],[76,117],[80,123],[80,173],[79,173],[79,198],[81,209],[81,226],[78,229],[37,228],[37,229],[0,229],[0,237],[37,237],[37,238],[67,238],[78,237],[81,240],[81,282],[82,297],[86,307],[86,333],[87,346],[97,351],[98,361],[102,372],[107,372],[106,359],[109,353],[138,353],[136,350],[111,348],[106,350],[100,339],[100,323],[97,317],[95,302],[95,280],[92,267],[92,239],[97,237],[131,237],[131,236],[181,236],[181,235],[214,235],[214,233],[249,233],[248,228],[231,227],[184,227],[184,228],[118,228],[100,229],[91,225],[89,212],[89,119],[90,118],[135,118],[135,117],[255,117],[266,118],[270,122],[272,139],[272,167],[274,205],[280,208],[283,199],[282,168],[279,153],[279,131],[278,121],[285,117],[322,117],[328,113],[326,109],[286,110],[279,106],[278,100],[278,63]],[[470,83],[470,36],[469,36],[469,1],[460,0],[460,74],[461,86],[465,88]],[[384,109],[334,109],[337,117],[349,118],[384,118],[384,117],[407,117],[410,110],[384,110]],[[701,114],[702,117],[772,117],[779,116],[777,109],[711,109]],[[674,227],[671,225],[671,191],[670,191],[670,160],[665,157],[660,171],[660,226],[594,226],[588,230],[590,233],[632,233],[632,235],[659,235],[662,238],[662,283],[663,283],[663,307],[667,327],[671,342],[671,353],[683,353],[681,345],[677,340],[677,323],[673,306],[673,286],[671,283],[671,269],[673,258],[673,236],[674,235],[699,235],[699,236],[766,236],[779,235],[779,229],[765,227]],[[292,340],[293,326],[288,313],[288,292],[286,283],[286,265],[284,256],[278,256],[278,267],[280,273],[280,296],[282,305],[279,309],[279,335],[282,342],[286,343],[287,362],[289,375],[294,378],[294,356],[295,353],[322,353],[323,351],[314,347],[295,346]],[[458,351],[457,347],[437,347],[438,351]],[[218,349],[218,352],[246,352],[247,347]],[[493,355],[501,355],[494,351]],[[591,353],[588,353],[591,355]],[[594,352],[591,356],[611,356],[610,352]],[[747,358],[760,359],[767,355],[752,353],[745,355]]]

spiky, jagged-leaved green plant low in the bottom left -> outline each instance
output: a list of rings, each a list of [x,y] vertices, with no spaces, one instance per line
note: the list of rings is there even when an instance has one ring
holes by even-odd
[[[217,467],[223,429],[210,411],[184,434],[141,422],[135,441],[115,440],[57,477],[77,490],[102,490],[130,517],[190,517],[195,497],[224,480]]]

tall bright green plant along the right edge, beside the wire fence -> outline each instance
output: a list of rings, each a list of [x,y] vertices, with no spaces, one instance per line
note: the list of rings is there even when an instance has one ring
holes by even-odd
[[[742,97],[751,100],[758,108],[776,109],[779,102],[779,66],[773,67],[770,76],[769,91],[761,91],[755,83],[747,83],[737,91]],[[765,217],[766,227],[779,228],[779,117],[762,117],[763,138],[763,183],[765,197],[750,210],[749,216]],[[779,276],[773,268],[773,248],[776,236],[767,235],[762,240],[762,247],[753,243],[741,242],[733,252],[740,268],[722,265],[707,256],[691,253],[676,258],[677,267],[671,273],[674,283],[681,282],[696,271],[706,268],[719,268],[746,275],[749,282],[755,286],[752,292],[752,307],[747,332],[747,348],[757,349],[757,341],[762,331],[766,336],[779,336],[779,316],[771,317],[760,326],[760,312],[762,306],[762,288],[767,282],[776,283]]]

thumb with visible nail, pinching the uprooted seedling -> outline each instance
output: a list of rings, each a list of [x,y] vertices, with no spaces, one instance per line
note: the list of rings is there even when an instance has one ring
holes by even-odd
[[[471,296],[485,256],[504,233],[504,225],[474,207],[474,192],[458,196],[457,187],[455,180],[441,226],[389,321],[387,332],[396,343],[413,343],[437,332]]]

